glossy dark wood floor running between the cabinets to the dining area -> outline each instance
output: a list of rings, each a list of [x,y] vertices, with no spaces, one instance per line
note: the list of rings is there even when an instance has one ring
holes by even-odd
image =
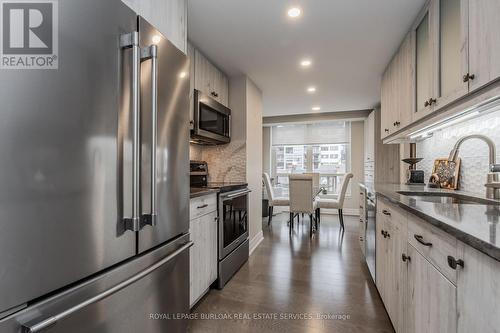
[[[342,237],[338,217],[323,215],[310,240],[308,218],[290,238],[287,217],[275,216],[272,228],[265,219],[264,241],[248,263],[222,291],[210,290],[193,309],[198,318],[219,319],[191,320],[190,332],[393,332],[362,261],[358,218],[346,216]],[[316,319],[318,314],[330,317]],[[274,318],[254,319],[259,316]],[[285,319],[290,316],[297,317]]]

